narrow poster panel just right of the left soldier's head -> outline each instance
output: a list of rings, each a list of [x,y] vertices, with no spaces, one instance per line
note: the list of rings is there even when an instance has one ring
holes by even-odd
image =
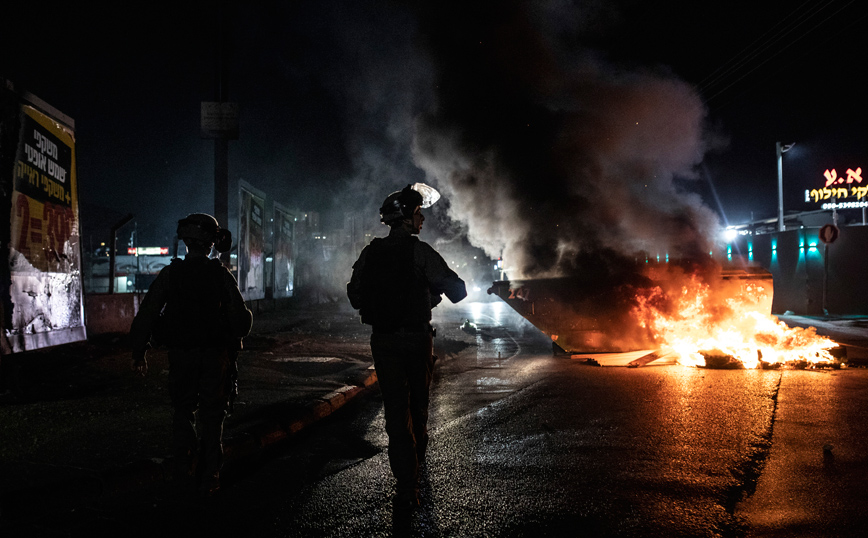
[[[265,197],[242,181],[238,208],[238,287],[244,300],[265,297]]]

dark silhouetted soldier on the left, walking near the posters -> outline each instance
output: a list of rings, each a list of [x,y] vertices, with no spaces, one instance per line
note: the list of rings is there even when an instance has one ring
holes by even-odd
[[[176,478],[203,494],[219,489],[223,421],[237,390],[236,359],[253,315],[232,274],[211,252],[227,252],[232,235],[211,215],[178,221],[187,256],[163,268],[130,329],[132,367],[148,369],[152,342],[169,349],[169,396]],[[201,447],[196,432],[198,411]]]

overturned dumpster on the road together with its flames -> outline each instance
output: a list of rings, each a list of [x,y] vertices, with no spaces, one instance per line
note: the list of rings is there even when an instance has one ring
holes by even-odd
[[[759,267],[656,264],[497,282],[489,291],[564,350],[655,350],[634,366],[673,355],[703,368],[836,367],[842,356],[814,328],[791,328],[771,315],[773,282]]]

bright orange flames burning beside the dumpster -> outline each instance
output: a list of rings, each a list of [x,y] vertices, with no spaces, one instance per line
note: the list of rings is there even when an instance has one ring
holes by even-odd
[[[799,367],[835,361],[833,341],[813,327],[791,328],[763,313],[770,290],[753,282],[728,283],[726,297],[687,277],[679,289],[660,287],[637,296],[634,315],[680,364],[707,366],[707,358],[739,361],[744,368]]]

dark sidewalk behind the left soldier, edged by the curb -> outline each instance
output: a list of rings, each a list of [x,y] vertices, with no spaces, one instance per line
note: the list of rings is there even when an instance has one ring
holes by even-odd
[[[369,334],[355,312],[338,305],[257,314],[225,424],[226,464],[291,436],[376,383]],[[45,507],[169,479],[165,350],[148,354],[144,378],[130,370],[125,336],[14,357],[19,390],[0,396],[0,529],[33,501]]]

